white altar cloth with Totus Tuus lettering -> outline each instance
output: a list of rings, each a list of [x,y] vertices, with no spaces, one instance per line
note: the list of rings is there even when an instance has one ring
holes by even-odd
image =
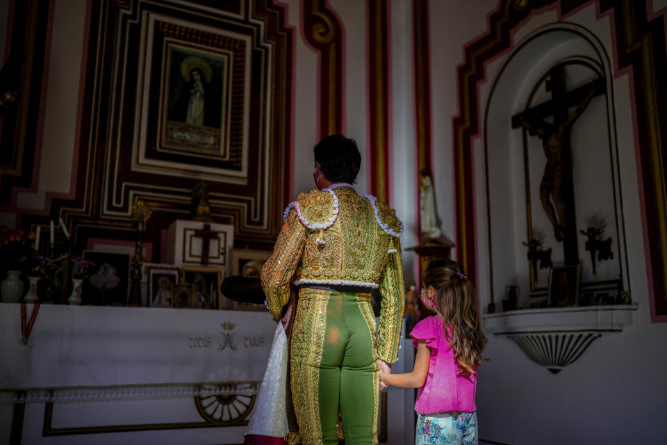
[[[258,382],[275,328],[268,312],[41,305],[24,345],[20,305],[0,303],[0,388]]]

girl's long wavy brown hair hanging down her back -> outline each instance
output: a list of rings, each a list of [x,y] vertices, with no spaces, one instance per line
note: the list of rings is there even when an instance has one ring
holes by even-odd
[[[445,329],[450,327],[451,338],[447,340],[454,348],[461,374],[475,373],[475,368],[486,360],[481,353],[487,341],[477,314],[475,286],[463,275],[461,264],[451,259],[431,261],[424,273],[424,284],[436,291],[433,302],[445,318]]]

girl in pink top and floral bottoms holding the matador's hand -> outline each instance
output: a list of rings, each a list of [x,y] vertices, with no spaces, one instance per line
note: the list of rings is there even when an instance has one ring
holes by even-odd
[[[436,313],[410,333],[417,347],[411,373],[380,373],[386,385],[419,388],[415,445],[477,445],[475,389],[486,337],[477,296],[461,265],[433,261],[424,275],[422,302]]]

